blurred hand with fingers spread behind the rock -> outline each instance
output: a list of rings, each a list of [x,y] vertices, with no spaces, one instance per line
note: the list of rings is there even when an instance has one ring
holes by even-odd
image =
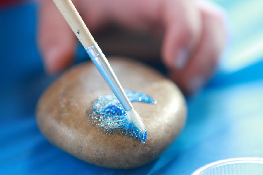
[[[226,41],[223,14],[192,0],[73,0],[91,32],[109,23],[162,31],[162,60],[184,92],[211,76]],[[39,46],[46,70],[56,73],[73,59],[77,38],[51,0],[41,1]]]

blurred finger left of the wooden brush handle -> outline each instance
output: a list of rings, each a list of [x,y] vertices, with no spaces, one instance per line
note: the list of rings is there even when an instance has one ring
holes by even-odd
[[[57,73],[72,62],[76,38],[53,1],[41,1],[38,42],[48,73]]]

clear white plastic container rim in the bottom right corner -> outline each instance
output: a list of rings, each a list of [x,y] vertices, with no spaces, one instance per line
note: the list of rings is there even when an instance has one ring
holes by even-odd
[[[192,175],[263,175],[263,158],[241,157],[219,160],[207,164]]]

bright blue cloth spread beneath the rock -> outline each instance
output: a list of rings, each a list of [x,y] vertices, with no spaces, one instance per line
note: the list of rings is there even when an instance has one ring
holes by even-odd
[[[178,139],[142,167],[102,168],[51,145],[34,114],[37,99],[56,78],[43,71],[36,13],[32,2],[0,11],[0,174],[191,174],[220,159],[263,157],[263,55],[237,71],[219,69],[187,99],[188,119]]]

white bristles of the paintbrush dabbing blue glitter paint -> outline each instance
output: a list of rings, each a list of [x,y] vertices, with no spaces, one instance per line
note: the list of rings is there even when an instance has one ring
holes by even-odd
[[[132,108],[131,110],[127,111],[127,119],[132,122],[135,126],[138,127],[139,133],[144,135],[145,133],[145,125],[143,120],[141,119],[140,115]]]

